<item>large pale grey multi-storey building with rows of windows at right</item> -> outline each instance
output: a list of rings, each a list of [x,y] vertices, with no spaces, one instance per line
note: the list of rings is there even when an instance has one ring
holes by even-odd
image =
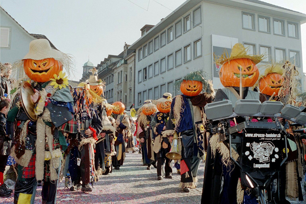
[[[257,0],[186,1],[129,47],[136,50],[135,107],[164,92],[179,94],[173,90],[175,81],[199,69],[215,89],[222,88],[214,54],[225,48],[230,53],[238,42],[251,54],[265,54],[261,64],[290,60],[303,73],[304,22],[305,14]]]

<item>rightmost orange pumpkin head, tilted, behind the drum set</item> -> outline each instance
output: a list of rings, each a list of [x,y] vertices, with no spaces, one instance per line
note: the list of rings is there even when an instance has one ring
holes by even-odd
[[[284,84],[284,79],[279,73],[269,73],[259,81],[259,90],[261,93],[271,96],[275,92],[278,95],[279,88]]]

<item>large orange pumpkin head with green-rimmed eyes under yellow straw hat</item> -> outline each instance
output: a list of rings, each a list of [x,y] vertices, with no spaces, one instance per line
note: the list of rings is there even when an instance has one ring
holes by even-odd
[[[227,86],[240,86],[240,70],[242,74],[242,87],[252,87],[257,82],[259,70],[250,59],[235,59],[225,62],[219,72],[221,84]]]

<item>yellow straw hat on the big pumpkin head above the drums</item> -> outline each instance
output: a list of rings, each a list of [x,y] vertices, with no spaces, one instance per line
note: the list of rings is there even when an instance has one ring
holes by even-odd
[[[235,59],[250,59],[254,64],[258,64],[264,59],[264,55],[248,55],[247,51],[248,49],[241,43],[236,43],[232,48],[231,56],[228,56],[226,50],[224,50],[224,53],[220,57],[215,56],[216,64],[223,65],[225,62]]]

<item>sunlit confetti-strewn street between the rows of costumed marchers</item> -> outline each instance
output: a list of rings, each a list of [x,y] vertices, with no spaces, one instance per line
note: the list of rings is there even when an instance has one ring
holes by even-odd
[[[59,184],[57,203],[200,203],[204,164],[200,164],[196,189],[183,193],[179,188],[180,175],[173,167],[172,179],[157,180],[154,167],[147,170],[142,165],[141,154],[127,153],[120,170],[103,175],[94,184],[90,193],[69,191],[64,189],[64,182]],[[9,198],[1,198],[1,203],[13,203],[13,194]],[[35,203],[41,202],[41,187],[37,188]]]

